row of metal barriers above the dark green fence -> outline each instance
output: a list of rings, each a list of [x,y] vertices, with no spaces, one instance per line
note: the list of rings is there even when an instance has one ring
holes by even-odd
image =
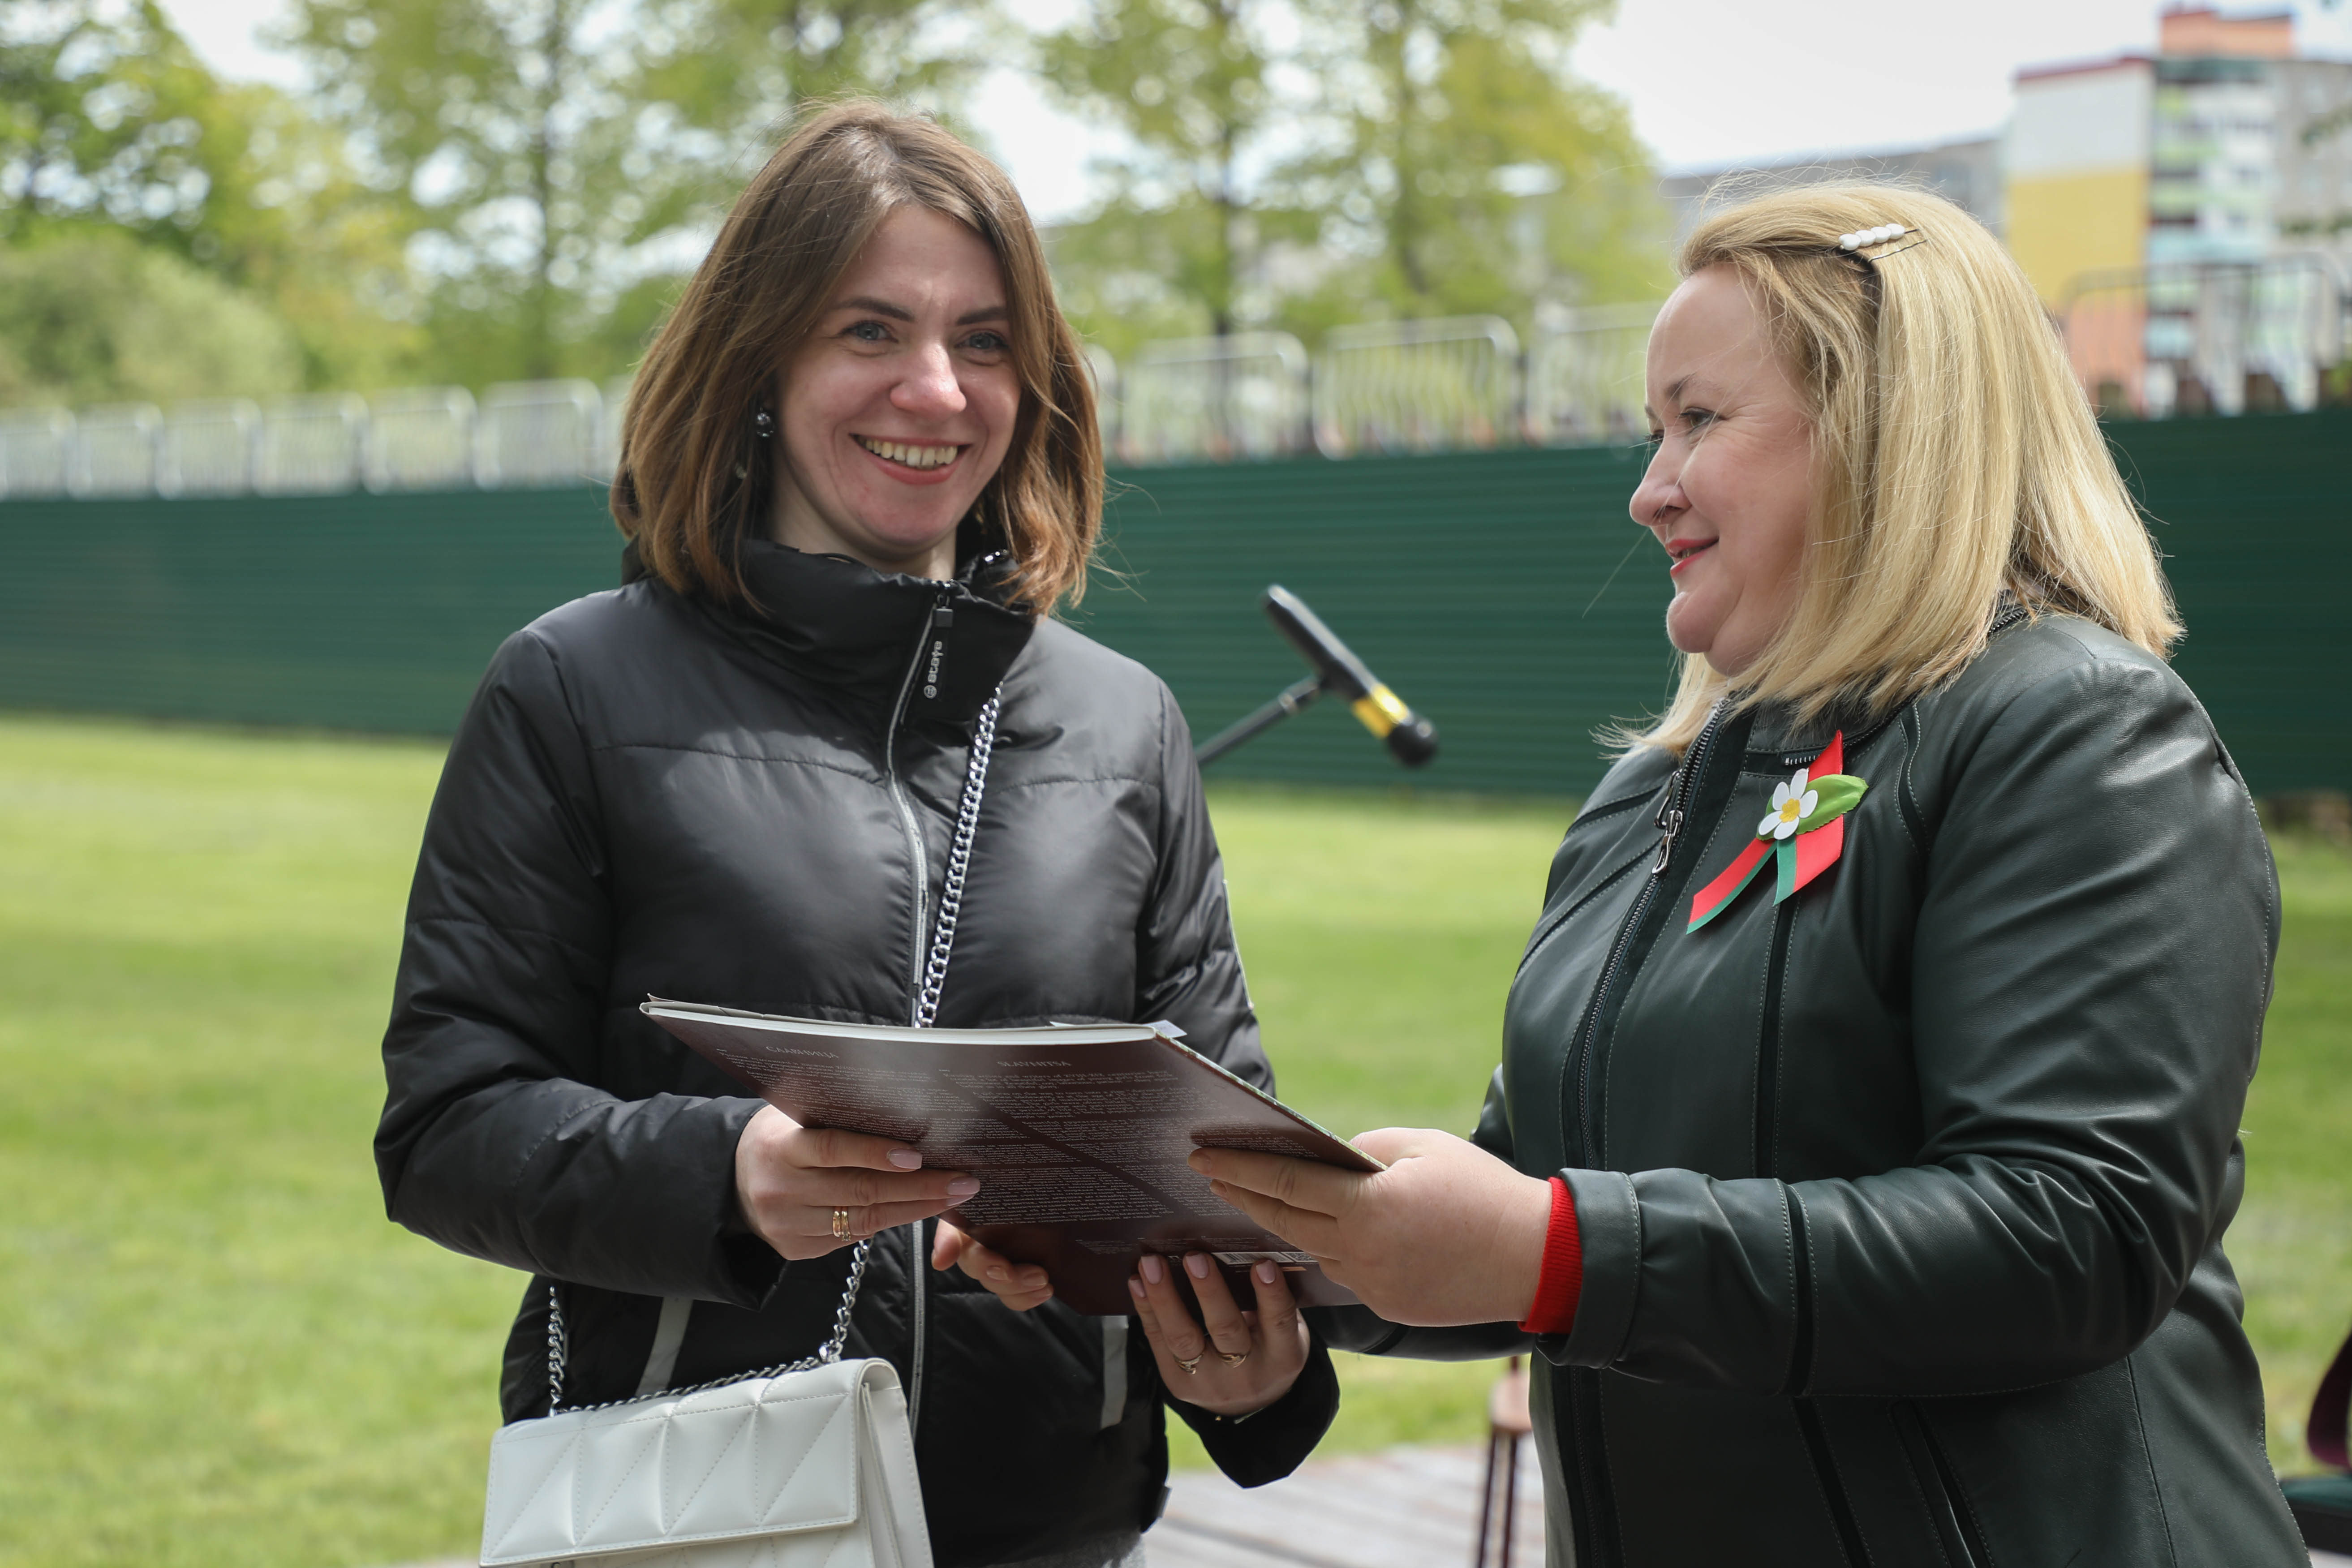
[[[2084,275],[2058,306],[2074,374],[2122,416],[2305,411],[2352,350],[2326,256]],[[1087,348],[1103,447],[1124,463],[1235,463],[1637,440],[1656,303]],[[2345,388],[2338,386],[2338,400]],[[628,378],[358,397],[0,409],[0,498],[543,489],[612,477]]]

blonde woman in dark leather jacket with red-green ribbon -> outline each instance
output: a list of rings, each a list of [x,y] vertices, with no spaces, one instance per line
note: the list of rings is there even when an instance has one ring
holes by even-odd
[[[1679,270],[1632,517],[1682,689],[1475,1140],[1197,1164],[1364,1347],[1534,1342],[1552,1563],[2300,1563],[2220,1248],[2277,884],[2065,355],[1915,190]]]

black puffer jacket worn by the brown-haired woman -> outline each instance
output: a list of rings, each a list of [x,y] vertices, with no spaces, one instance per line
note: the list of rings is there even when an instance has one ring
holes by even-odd
[[[510,637],[433,802],[376,1161],[395,1220],[536,1276],[508,1420],[548,1408],[548,1281],[567,1403],[637,1392],[666,1298],[684,1321],[670,1387],[823,1340],[849,1253],[788,1267],[741,1227],[734,1147],[760,1103],[637,1001],[906,1023],[971,717],[1000,679],[938,1023],[1171,1018],[1272,1081],[1185,724],[1150,672],[1004,609],[985,574],[889,578],[767,543],[746,569],[764,618],[637,581]],[[908,1387],[938,1561],[1150,1523],[1167,1436],[1143,1335],[1061,1302],[1009,1312],[917,1246],[877,1241],[849,1354]],[[1176,1408],[1258,1483],[1315,1446],[1338,1387],[1317,1347],[1247,1422]]]

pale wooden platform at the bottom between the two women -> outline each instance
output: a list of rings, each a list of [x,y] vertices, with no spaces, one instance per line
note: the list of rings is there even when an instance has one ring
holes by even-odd
[[[1150,1568],[1470,1568],[1484,1474],[1484,1448],[1308,1460],[1247,1493],[1214,1469],[1185,1469],[1169,1476],[1169,1509],[1143,1554]],[[1534,1443],[1519,1443],[1517,1519],[1510,1563],[1541,1568]]]

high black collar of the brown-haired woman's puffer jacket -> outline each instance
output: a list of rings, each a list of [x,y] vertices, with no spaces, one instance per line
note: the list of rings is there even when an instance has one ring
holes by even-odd
[[[720,630],[807,682],[882,710],[894,710],[903,689],[913,719],[969,724],[1037,628],[1007,604],[1004,552],[934,583],[748,538],[741,567],[753,607],[696,599]]]

